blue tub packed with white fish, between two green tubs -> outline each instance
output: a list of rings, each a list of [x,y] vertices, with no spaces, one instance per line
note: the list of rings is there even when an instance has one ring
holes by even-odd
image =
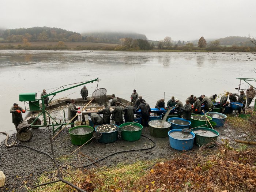
[[[117,140],[118,126],[114,124],[102,124],[95,127],[95,131],[102,133],[98,139],[100,143],[113,143]]]

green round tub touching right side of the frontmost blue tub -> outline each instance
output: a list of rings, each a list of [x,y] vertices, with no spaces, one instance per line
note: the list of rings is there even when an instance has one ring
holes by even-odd
[[[206,133],[196,133],[197,131],[202,130],[205,131]],[[214,129],[206,128],[206,127],[198,127],[195,129],[192,129],[192,132],[195,133],[196,138],[195,138],[195,144],[197,146],[203,146],[207,145],[208,147],[213,147],[215,146],[215,143],[217,141],[217,138],[219,136],[219,132],[215,131]],[[207,132],[210,134],[207,134]]]

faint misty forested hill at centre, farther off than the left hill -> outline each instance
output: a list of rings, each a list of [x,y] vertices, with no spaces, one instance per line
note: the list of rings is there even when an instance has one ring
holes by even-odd
[[[138,33],[121,33],[121,32],[94,32],[81,33],[86,42],[119,44],[120,39],[132,38],[147,40],[146,35]]]

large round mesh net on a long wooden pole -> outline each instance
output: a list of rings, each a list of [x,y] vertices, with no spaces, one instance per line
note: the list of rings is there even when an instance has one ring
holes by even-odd
[[[98,87],[98,86],[97,86]],[[92,96],[93,96],[93,99],[91,99],[91,101],[90,102],[88,102],[87,104],[86,104],[86,106],[84,106],[83,107],[83,109],[82,110],[80,110],[81,112],[95,99],[95,101],[96,102],[102,102],[103,101],[103,99],[105,99],[106,100],[106,93],[107,93],[107,90],[105,89],[105,88],[100,88],[100,89],[96,89],[95,91],[93,91],[93,94],[92,94]],[[101,103],[100,103],[101,104]],[[78,113],[79,114],[79,113]],[[78,116],[78,114],[76,114],[76,116]],[[65,127],[67,127],[67,125],[72,121],[72,120],[74,120],[74,118],[76,118],[76,116],[75,117],[73,117],[52,139],[54,139]]]

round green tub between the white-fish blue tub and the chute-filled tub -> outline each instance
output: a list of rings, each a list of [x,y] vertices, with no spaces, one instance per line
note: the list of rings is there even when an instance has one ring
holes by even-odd
[[[122,128],[122,127],[130,125],[132,123],[133,122],[123,123],[123,124],[119,125],[119,127]],[[140,130],[138,130],[138,131],[127,131],[124,128],[124,130],[121,132],[121,136],[122,136],[123,140],[126,140],[126,141],[136,141],[136,140],[140,139],[140,135],[141,135],[143,126],[141,124],[139,124],[139,123],[133,123],[132,125],[139,126]]]

